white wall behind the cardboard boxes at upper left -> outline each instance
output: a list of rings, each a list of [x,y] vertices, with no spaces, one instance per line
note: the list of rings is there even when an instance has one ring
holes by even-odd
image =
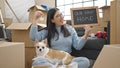
[[[55,6],[55,0],[35,0],[35,1],[34,0],[7,0],[7,1],[10,4],[13,11],[15,12],[15,14],[17,15],[17,17],[23,23],[29,22],[28,21],[29,12],[27,12],[27,10],[31,6],[35,5],[36,1],[39,1],[40,4],[45,4],[50,7]],[[13,18],[13,22],[16,22],[16,23],[19,22],[6,3],[5,3],[5,13],[7,18]]]

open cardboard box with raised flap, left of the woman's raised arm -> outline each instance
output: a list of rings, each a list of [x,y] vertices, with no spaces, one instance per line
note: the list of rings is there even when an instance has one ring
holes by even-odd
[[[25,47],[33,47],[29,36],[31,23],[12,23],[7,29],[12,30],[12,42],[25,42]]]

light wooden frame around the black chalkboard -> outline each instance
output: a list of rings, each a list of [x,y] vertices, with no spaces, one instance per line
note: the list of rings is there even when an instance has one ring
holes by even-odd
[[[73,13],[74,13],[74,11],[84,11],[84,10],[95,10],[95,12],[96,12],[96,21],[97,22],[92,22],[92,24],[90,23],[82,23],[82,24],[75,24],[75,17],[74,17],[74,15],[73,15]],[[73,27],[83,27],[84,25],[90,25],[90,26],[96,26],[96,25],[100,25],[100,19],[99,19],[99,12],[98,12],[98,7],[97,6],[92,6],[92,7],[80,7],[80,8],[71,8],[70,9],[70,11],[71,11],[71,20],[72,20],[72,26]]]

